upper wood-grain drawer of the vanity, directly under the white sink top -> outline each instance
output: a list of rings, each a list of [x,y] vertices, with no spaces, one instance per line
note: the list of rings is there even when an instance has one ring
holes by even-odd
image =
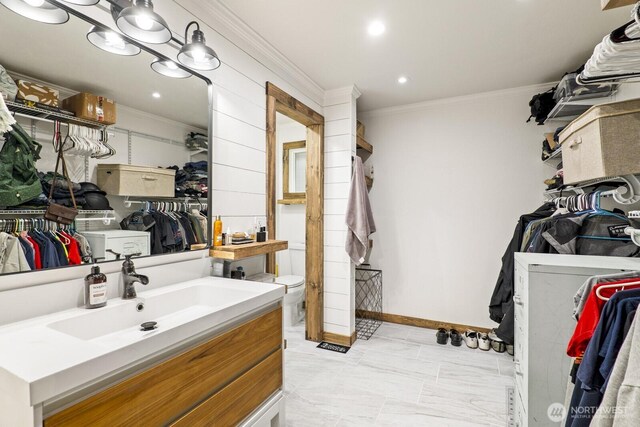
[[[281,360],[281,346],[278,307],[51,415],[44,425],[164,426],[265,359],[277,354]]]

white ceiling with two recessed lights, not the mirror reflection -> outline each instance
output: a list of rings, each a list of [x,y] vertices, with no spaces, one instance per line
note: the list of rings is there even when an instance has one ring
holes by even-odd
[[[600,0],[218,1],[324,89],[355,83],[361,111],[559,80],[630,13]]]

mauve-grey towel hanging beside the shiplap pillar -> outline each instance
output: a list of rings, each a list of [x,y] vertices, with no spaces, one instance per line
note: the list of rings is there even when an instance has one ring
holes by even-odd
[[[362,159],[358,156],[355,156],[351,176],[346,222],[349,230],[345,249],[353,262],[360,265],[364,262],[369,248],[369,236],[376,232],[376,224],[373,221],[373,212],[369,203]]]

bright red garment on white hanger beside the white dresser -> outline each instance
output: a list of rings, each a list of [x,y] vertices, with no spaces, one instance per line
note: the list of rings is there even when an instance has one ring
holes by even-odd
[[[595,285],[593,289],[591,289],[591,293],[587,297],[587,302],[584,304],[584,309],[582,310],[582,314],[580,315],[580,320],[578,320],[578,324],[573,331],[573,336],[571,336],[569,345],[567,346],[567,354],[569,356],[582,356],[584,351],[587,349],[587,345],[589,345],[589,341],[591,340],[596,327],[598,326],[598,322],[600,321],[600,313],[602,313],[602,307],[604,307],[604,305],[607,303],[607,301],[601,300],[596,295],[596,291],[598,290],[598,288],[608,285],[620,285],[620,287],[622,287],[622,285],[625,283],[638,282],[639,280],[640,279],[636,277],[632,279],[618,280],[616,282],[600,283],[598,285]],[[636,288],[640,288],[640,284],[625,287],[625,289]],[[619,290],[620,288],[603,289],[600,294],[605,298],[610,298]]]

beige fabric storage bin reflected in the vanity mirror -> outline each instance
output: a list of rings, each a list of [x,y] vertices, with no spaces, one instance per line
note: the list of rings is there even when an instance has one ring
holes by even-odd
[[[98,187],[113,196],[174,197],[175,176],[173,169],[98,165]]]

